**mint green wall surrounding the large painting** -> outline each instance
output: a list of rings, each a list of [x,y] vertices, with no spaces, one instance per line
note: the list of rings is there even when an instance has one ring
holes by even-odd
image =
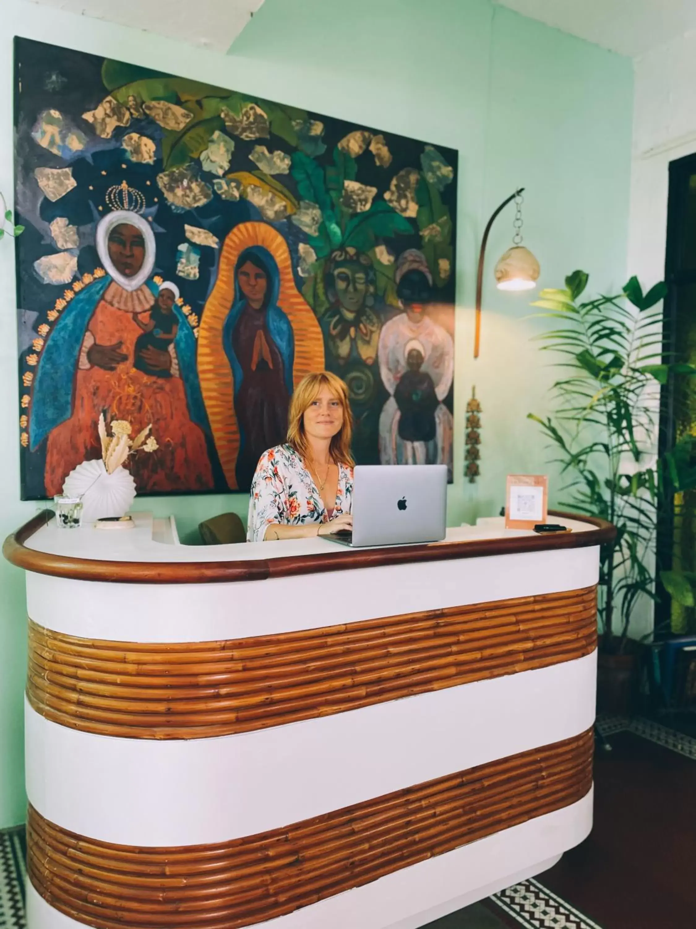
[[[457,148],[455,472],[462,471],[464,406],[475,384],[483,405],[483,476],[474,485],[457,478],[449,495],[450,523],[496,512],[509,472],[548,470],[546,452],[524,418],[530,410],[545,412],[553,380],[530,343],[538,323],[525,319],[526,295],[499,294],[490,283],[497,255],[509,246],[512,213],[501,216],[491,237],[482,354],[474,362],[477,242],[497,203],[524,185],[525,239],[541,262],[542,283],[555,285],[576,267],[591,271],[598,289],[625,281],[632,99],[627,59],[489,0],[265,0],[226,57],[23,0],[4,0],[2,6],[0,189],[6,192],[12,188],[13,34]],[[0,242],[2,537],[35,509],[19,503],[13,277],[11,244]],[[200,519],[246,510],[246,500],[235,495],[138,504],[174,512],[185,538],[194,537]],[[0,562],[0,828],[24,817],[23,601],[21,573]]]

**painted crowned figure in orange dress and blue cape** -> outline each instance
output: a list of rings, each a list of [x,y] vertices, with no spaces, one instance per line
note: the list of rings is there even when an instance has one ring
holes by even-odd
[[[126,205],[135,200],[125,189],[121,196]],[[32,450],[47,438],[46,494],[60,493],[74,467],[101,456],[97,421],[104,410],[129,421],[134,436],[152,424],[160,447],[135,465],[138,491],[210,490],[196,339],[175,303],[174,339],[165,350],[138,348],[143,363],[135,367],[135,344],[160,290],[151,279],[152,229],[135,210],[115,210],[97,226],[97,252],[103,268],[63,309],[36,372],[29,435]]]

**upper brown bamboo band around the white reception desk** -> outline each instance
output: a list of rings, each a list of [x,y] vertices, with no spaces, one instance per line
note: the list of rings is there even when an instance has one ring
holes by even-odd
[[[84,732],[203,739],[544,668],[596,644],[596,587],[220,642],[90,640],[30,621],[27,696]]]

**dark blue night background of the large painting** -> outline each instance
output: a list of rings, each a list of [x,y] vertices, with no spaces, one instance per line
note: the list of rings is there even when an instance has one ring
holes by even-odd
[[[103,60],[84,52],[59,46],[45,45],[27,39],[15,40],[15,203],[17,221],[26,227],[17,242],[20,362],[24,361],[27,349],[31,351],[29,348],[31,338],[35,335],[37,326],[45,321],[46,312],[53,307],[55,301],[62,296],[68,286],[45,284],[38,278],[32,267],[38,258],[43,255],[54,255],[57,252],[56,245],[47,229],[47,224],[57,216],[66,216],[71,225],[80,229],[81,247],[78,255],[78,270],[80,274],[85,271],[91,272],[100,265],[94,247],[94,235],[98,219],[109,212],[105,201],[107,190],[114,184],[120,184],[122,180],[140,190],[146,196],[146,215],[152,217],[157,242],[157,261],[153,273],[176,281],[184,301],[199,317],[213,287],[216,262],[220,253],[217,249],[198,246],[200,249],[199,280],[187,281],[176,277],[176,251],[181,243],[187,242],[185,224],[209,229],[222,242],[230,229],[239,222],[250,219],[263,221],[263,217],[251,203],[246,200],[238,203],[225,201],[217,193],[213,193],[210,203],[197,210],[185,213],[175,212],[157,185],[156,178],[162,170],[159,144],[155,164],[137,164],[129,161],[121,146],[122,137],[130,132],[137,132],[158,140],[161,137],[161,128],[151,120],[135,120],[128,127],[119,127],[111,139],[102,139],[95,135],[92,126],[83,119],[83,113],[94,110],[107,96],[101,77]],[[161,72],[152,73],[160,74]],[[257,98],[248,97],[247,99],[254,102]],[[260,105],[263,108],[263,101],[260,101]],[[49,109],[58,110],[66,121],[84,133],[89,140],[84,150],[75,152],[69,159],[64,159],[34,141],[32,128],[38,115]],[[321,165],[333,164],[333,151],[342,137],[356,129],[370,128],[311,112],[307,113],[307,118],[319,120],[325,126],[323,141],[326,151],[315,159],[317,164]],[[233,137],[231,133],[228,134]],[[375,203],[383,198],[386,190],[389,190],[389,184],[398,171],[406,167],[420,168],[420,155],[425,147],[424,142],[415,139],[385,132],[382,132],[382,135],[393,155],[393,162],[388,168],[385,169],[375,164],[374,157],[369,150],[356,160],[357,180],[376,187],[378,190],[374,198]],[[274,134],[270,138],[251,141],[236,136],[233,138],[235,150],[229,172],[258,170],[258,165],[251,162],[248,157],[257,144],[265,145],[270,151],[282,150],[291,154],[295,150],[285,139]],[[437,150],[455,169],[455,181],[445,188],[442,199],[449,208],[452,218],[452,247],[453,254],[456,255],[458,153],[442,146],[437,146]],[[213,179],[216,176],[200,170],[200,163],[194,164],[198,164],[201,179],[213,187]],[[56,203],[51,203],[38,189],[33,172],[37,167],[59,168],[68,165],[72,167],[72,176],[77,182],[77,187]],[[298,200],[303,199],[291,175],[275,177]],[[100,210],[99,207],[102,209]],[[398,254],[406,248],[420,247],[420,236],[415,220],[412,224],[414,229],[412,236],[399,236],[397,239],[385,242],[393,252]],[[299,263],[297,249],[300,242],[307,241],[307,237],[290,221],[272,225],[289,242],[296,284],[298,289],[302,290],[304,279],[297,275]],[[456,265],[453,259],[449,280],[445,287],[437,292],[436,299],[441,307],[442,305],[453,307],[455,280]],[[454,334],[453,308],[445,309],[445,312],[441,311],[437,321],[450,334]],[[27,370],[26,366],[20,363],[20,376],[25,370]],[[20,392],[22,394],[26,392],[21,382]],[[387,397],[386,390],[380,386],[380,396],[376,401],[380,408]],[[445,404],[450,410],[452,409],[451,390],[450,395],[445,399]],[[213,443],[209,442],[209,446],[216,490],[225,491],[226,482],[217,462]],[[45,443],[33,452],[22,449],[21,457],[22,499],[44,497]]]

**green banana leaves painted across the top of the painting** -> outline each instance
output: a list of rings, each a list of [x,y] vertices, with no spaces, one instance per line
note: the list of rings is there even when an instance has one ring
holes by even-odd
[[[161,159],[165,172],[185,167],[200,158],[213,134],[216,131],[228,133],[229,121],[239,120],[251,103],[245,95],[230,92],[223,87],[161,74],[149,68],[110,59],[102,67],[102,80],[108,91],[107,97],[102,100],[107,110],[115,101],[126,114],[130,112],[137,118],[139,113],[142,118],[143,109],[148,111],[148,104],[163,101],[174,104],[187,115],[186,123],[179,128],[160,126]],[[312,295],[316,299],[313,307],[318,315],[328,306],[321,274],[331,252],[340,248],[354,248],[369,254],[377,276],[378,293],[393,298],[393,267],[386,261],[382,262],[376,250],[384,240],[401,235],[413,236],[414,232],[419,231],[434,281],[438,287],[445,285],[453,261],[452,221],[449,208],[442,202],[440,195],[443,188],[438,189],[436,179],[428,179],[433,171],[432,158],[425,164],[421,157],[423,171],[416,190],[416,229],[406,216],[400,215],[385,201],[371,203],[367,209],[346,204],[344,184],[346,181],[355,181],[357,164],[348,151],[338,146],[333,150],[332,164],[322,166],[316,162],[316,156],[326,151],[326,144],[321,134],[312,135],[308,131],[312,124],[310,114],[297,107],[283,106],[265,99],[257,99],[256,105],[263,111],[266,130],[260,140],[263,141],[270,131],[294,149],[290,175],[301,200],[316,204],[321,214],[316,235],[308,236],[316,262],[313,278],[307,281],[304,288],[305,296]],[[436,152],[434,154],[437,155]],[[443,166],[442,162],[439,164]],[[289,204],[290,213],[297,212],[300,206],[280,181],[261,171],[237,172],[226,174],[225,177],[226,180],[240,181],[244,188],[253,184],[265,192],[276,193]]]

